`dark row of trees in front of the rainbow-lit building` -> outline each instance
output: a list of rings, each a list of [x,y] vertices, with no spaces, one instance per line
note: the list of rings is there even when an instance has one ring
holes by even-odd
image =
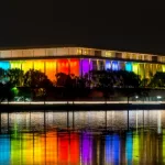
[[[96,95],[97,90],[105,99],[120,90],[128,98],[139,95],[146,96],[148,89],[164,88],[165,73],[156,73],[151,79],[141,79],[132,72],[127,70],[91,70],[84,76],[66,75],[57,73],[55,81],[51,81],[47,76],[40,72],[30,69],[0,68],[0,100],[14,100],[21,97],[31,100],[86,100],[89,96]]]

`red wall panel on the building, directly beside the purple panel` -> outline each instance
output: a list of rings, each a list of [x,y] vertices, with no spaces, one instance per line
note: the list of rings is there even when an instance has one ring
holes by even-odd
[[[70,74],[74,74],[75,76],[79,76],[79,59],[70,59]]]

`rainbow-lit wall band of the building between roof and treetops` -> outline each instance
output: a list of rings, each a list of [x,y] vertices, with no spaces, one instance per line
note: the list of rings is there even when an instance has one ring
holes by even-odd
[[[92,63],[96,62],[96,63]],[[101,64],[101,65],[100,65]],[[94,66],[92,66],[94,65]],[[102,67],[102,65],[105,65]],[[75,76],[84,76],[92,69],[112,69],[134,72],[143,78],[151,78],[151,74],[156,72],[165,73],[164,64],[146,64],[134,62],[120,62],[110,59],[90,59],[90,58],[58,58],[58,59],[26,59],[26,61],[1,61],[0,68],[10,69],[19,68],[24,73],[29,69],[41,70],[46,74],[48,79],[54,81],[57,73],[74,74]],[[150,74],[151,73],[151,74]]]

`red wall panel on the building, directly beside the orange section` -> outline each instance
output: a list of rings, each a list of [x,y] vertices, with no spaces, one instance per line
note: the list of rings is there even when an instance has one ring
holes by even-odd
[[[69,64],[68,59],[57,59],[57,73],[69,74]]]

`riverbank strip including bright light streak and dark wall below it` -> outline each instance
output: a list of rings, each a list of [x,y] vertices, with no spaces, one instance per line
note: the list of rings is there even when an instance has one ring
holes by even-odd
[[[95,110],[155,110],[165,109],[165,102],[6,102],[0,105],[0,111],[95,111]]]

